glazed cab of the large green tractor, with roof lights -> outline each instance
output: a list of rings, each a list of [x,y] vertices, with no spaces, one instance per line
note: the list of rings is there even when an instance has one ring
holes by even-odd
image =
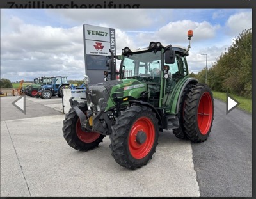
[[[180,79],[188,77],[184,47],[150,42],[147,48],[131,51],[122,49],[120,79],[136,79],[145,84],[147,102],[170,111],[172,91]]]

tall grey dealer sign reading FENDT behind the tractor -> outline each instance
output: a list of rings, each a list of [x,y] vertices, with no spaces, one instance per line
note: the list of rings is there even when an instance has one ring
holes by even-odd
[[[83,32],[85,72],[90,83],[97,84],[103,81],[109,49],[116,52],[115,29],[84,24]]]

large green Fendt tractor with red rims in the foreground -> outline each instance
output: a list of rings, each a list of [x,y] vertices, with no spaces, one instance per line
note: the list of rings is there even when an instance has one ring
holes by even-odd
[[[212,128],[214,102],[209,86],[188,76],[186,56],[192,36],[193,31],[188,31],[188,49],[150,42],[136,51],[125,47],[121,56],[111,53],[110,81],[89,86],[85,75],[86,101],[70,98],[71,109],[63,121],[68,145],[91,150],[109,135],[116,163],[136,169],[152,159],[159,131],[205,141]],[[121,59],[118,80],[114,58]]]

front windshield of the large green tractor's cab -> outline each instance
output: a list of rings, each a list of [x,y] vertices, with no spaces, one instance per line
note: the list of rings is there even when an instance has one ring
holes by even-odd
[[[157,82],[160,82],[160,70],[161,51],[157,51],[156,53],[152,51],[130,54],[129,56],[125,56],[122,62],[123,78],[142,78],[143,81],[157,79]]]

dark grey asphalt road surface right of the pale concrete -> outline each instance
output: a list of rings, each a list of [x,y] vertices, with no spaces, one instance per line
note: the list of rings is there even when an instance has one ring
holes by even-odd
[[[193,162],[200,196],[252,196],[252,115],[214,99],[212,132],[193,143]]]

